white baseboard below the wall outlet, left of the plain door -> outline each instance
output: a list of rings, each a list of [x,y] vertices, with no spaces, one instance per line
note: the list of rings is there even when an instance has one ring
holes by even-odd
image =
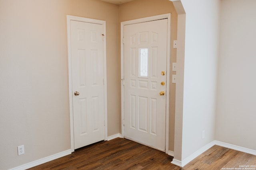
[[[63,152],[59,152],[59,153],[56,153],[56,154],[53,154],[51,156],[47,156],[47,157],[42,158],[42,159],[35,160],[33,162],[29,162],[27,164],[23,164],[21,166],[17,166],[15,168],[10,169],[10,170],[26,170],[28,168],[32,168],[34,166],[38,166],[40,164],[44,164],[46,162],[49,162],[49,161],[54,160],[54,159],[58,159],[60,157],[63,157],[63,156],[69,155],[69,154],[71,154],[71,149],[65,150]]]

